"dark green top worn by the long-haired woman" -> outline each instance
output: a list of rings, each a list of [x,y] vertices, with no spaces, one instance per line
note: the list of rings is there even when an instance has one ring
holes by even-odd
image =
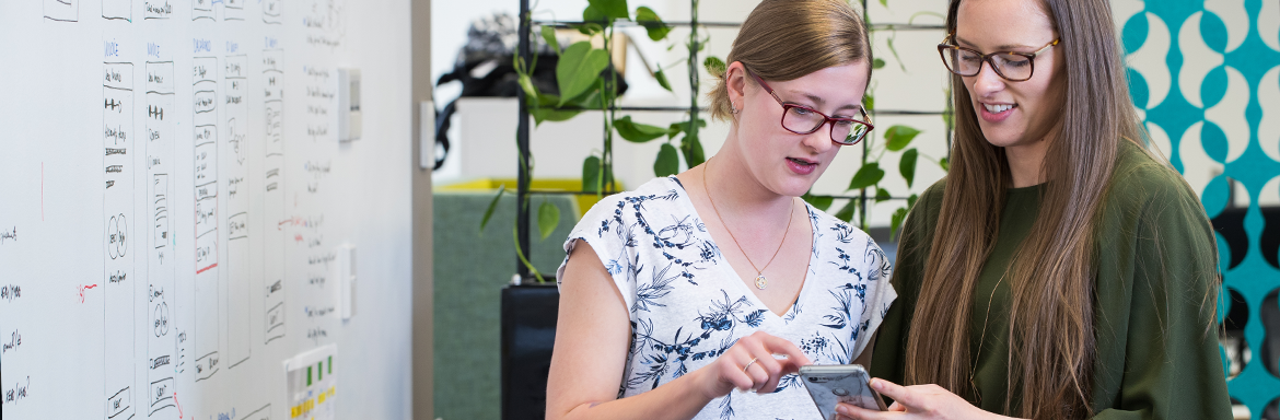
[[[872,375],[902,383],[906,341],[946,179],[929,187],[904,225],[893,302],[879,328]],[[1004,412],[1009,370],[1009,282],[1000,282],[1039,209],[1039,187],[1009,190],[996,246],[970,314],[975,406]],[[1094,419],[1230,419],[1217,337],[1202,305],[1216,266],[1215,238],[1176,172],[1123,141],[1094,238]],[[1197,275],[1196,273],[1202,273]],[[989,310],[989,315],[988,315]],[[983,328],[986,323],[986,328]],[[978,351],[980,346],[980,351]],[[1018,410],[1018,402],[1011,403]]]

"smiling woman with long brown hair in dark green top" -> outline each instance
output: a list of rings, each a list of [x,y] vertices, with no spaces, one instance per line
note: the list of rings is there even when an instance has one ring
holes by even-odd
[[[1229,419],[1217,251],[1144,145],[1106,0],[952,0],[947,177],[904,228],[855,419]],[[906,387],[902,387],[902,385]]]

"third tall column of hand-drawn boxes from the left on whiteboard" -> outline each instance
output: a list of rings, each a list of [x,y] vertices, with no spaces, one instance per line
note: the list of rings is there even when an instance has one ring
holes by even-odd
[[[218,348],[219,273],[218,273],[218,59],[192,60],[192,101],[196,129],[196,380],[204,380],[221,368]]]

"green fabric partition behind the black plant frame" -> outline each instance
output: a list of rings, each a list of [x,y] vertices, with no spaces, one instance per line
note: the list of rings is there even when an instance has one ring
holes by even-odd
[[[434,198],[435,416],[498,419],[499,306],[502,288],[516,273],[516,197],[502,197],[484,232],[480,220],[493,191],[436,192]],[[530,260],[550,277],[564,259],[561,245],[579,211],[573,196],[567,195],[534,195],[532,209],[543,200],[561,209],[561,223],[544,241],[534,229]]]

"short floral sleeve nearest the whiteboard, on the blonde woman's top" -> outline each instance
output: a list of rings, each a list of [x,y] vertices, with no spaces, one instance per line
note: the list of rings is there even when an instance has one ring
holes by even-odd
[[[620,196],[611,196],[600,200],[582,219],[577,222],[568,238],[564,239],[564,261],[556,269],[556,286],[559,287],[566,280],[564,266],[573,254],[573,246],[581,239],[591,246],[600,264],[609,271],[613,284],[621,292],[630,311],[636,301],[636,284],[632,265],[635,260],[634,241],[628,239],[630,223],[626,222],[626,211],[622,211],[625,201]]]

